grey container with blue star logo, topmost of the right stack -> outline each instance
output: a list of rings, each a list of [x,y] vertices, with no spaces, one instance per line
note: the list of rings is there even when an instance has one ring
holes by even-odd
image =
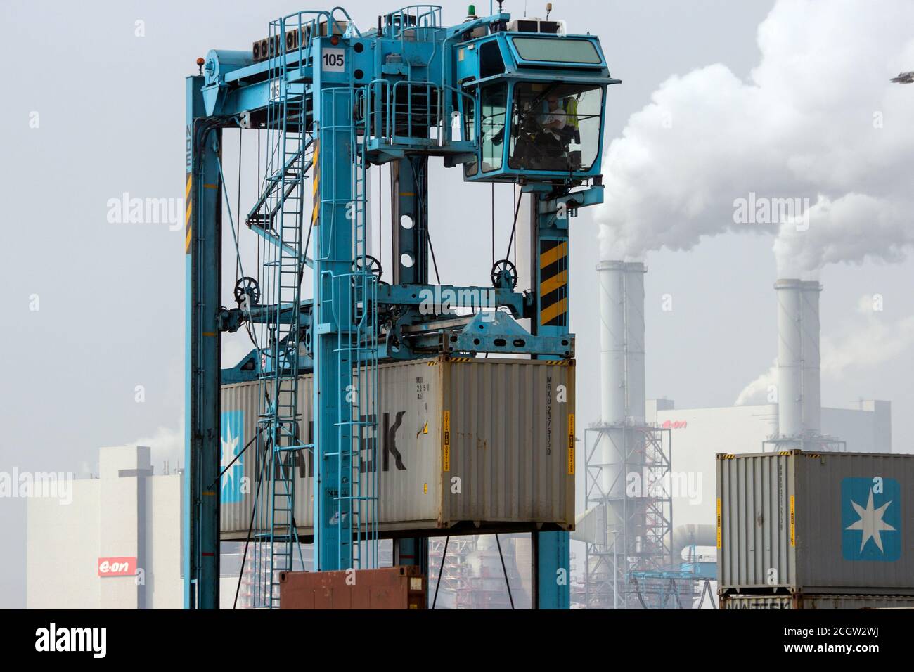
[[[914,455],[718,454],[718,590],[914,594],[912,498]]]

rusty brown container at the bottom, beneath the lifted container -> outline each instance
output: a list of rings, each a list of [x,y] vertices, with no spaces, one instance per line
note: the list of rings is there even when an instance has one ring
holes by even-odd
[[[280,609],[425,609],[418,567],[356,571],[284,571]]]

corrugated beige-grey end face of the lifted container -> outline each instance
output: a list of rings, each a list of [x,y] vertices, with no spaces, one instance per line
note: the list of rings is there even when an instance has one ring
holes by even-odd
[[[451,428],[450,464],[442,465],[447,527],[574,520],[574,367],[520,361],[459,359],[443,368],[442,411]]]

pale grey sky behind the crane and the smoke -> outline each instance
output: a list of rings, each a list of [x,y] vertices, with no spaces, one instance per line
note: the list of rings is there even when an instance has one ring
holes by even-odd
[[[444,5],[446,23],[464,16],[464,3]],[[524,5],[509,0],[505,11],[521,14]],[[529,2],[529,13],[536,14],[540,5]],[[756,28],[772,3],[553,5],[554,16],[568,20],[569,32],[600,36],[612,74],[622,79],[609,94],[606,136],[611,139],[673,74],[720,62],[746,78],[759,59]],[[346,6],[357,24],[377,22],[377,2]],[[476,6],[482,12],[488,4]],[[5,381],[0,471],[85,475],[94,468],[100,446],[157,432],[167,443],[169,435],[178,435],[184,403],[183,228],[113,224],[106,217],[107,203],[124,192],[183,200],[184,78],[196,72],[195,59],[209,48],[250,48],[254,38],[267,33],[271,18],[301,8],[297,2],[229,0],[90,5],[6,0],[0,6],[0,56],[18,64],[5,69],[0,107],[5,216],[0,259],[10,307],[10,324],[0,332]],[[144,37],[135,35],[138,20]],[[914,87],[909,93],[914,96]],[[37,128],[30,127],[33,112]],[[487,283],[489,187],[464,185],[459,171],[432,165],[430,229],[441,281]],[[510,230],[510,187],[496,187],[495,198],[501,250]],[[572,220],[571,323],[578,336],[581,423],[596,420],[598,411],[596,395],[588,391],[599,389],[594,366],[597,234],[589,215],[582,212]],[[770,235],[727,234],[692,251],[649,254],[648,397],[666,396],[679,406],[729,405],[771,365],[776,353],[772,240]],[[233,280],[234,271],[226,265],[227,280]],[[865,294],[884,295],[888,322],[914,315],[911,261],[833,265],[821,279],[824,337],[860,325],[856,308]],[[673,294],[672,312],[660,310],[664,293]],[[37,312],[29,309],[34,294]],[[877,366],[824,378],[824,405],[892,400],[895,450],[909,452],[905,430],[914,411],[912,372],[908,350]],[[143,403],[135,400],[138,385],[144,388]],[[153,448],[158,471],[165,457],[156,453],[155,443]],[[579,481],[582,488],[583,478]],[[0,606],[25,603],[24,518],[22,500],[0,500],[5,539]]]

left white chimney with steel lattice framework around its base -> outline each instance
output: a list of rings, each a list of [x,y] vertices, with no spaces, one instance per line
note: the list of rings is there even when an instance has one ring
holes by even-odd
[[[586,492],[588,505],[599,503],[605,514],[606,536],[594,544],[595,551],[588,547],[587,581],[600,584],[598,602],[611,597],[603,605],[620,608],[635,606],[629,570],[655,569],[670,561],[671,505],[663,498],[668,433],[664,442],[666,432],[648,427],[644,417],[645,272],[641,262],[597,265],[600,423],[592,450],[588,444]],[[640,595],[638,600],[644,604]]]

